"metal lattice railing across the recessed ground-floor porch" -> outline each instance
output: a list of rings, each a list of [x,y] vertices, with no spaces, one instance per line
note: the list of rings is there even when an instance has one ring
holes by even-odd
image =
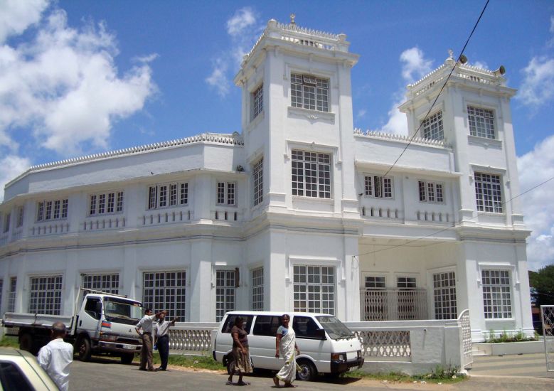
[[[425,289],[367,289],[360,292],[362,321],[427,319]]]

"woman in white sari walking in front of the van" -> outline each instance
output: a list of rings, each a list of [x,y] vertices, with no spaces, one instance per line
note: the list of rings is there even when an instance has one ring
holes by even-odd
[[[284,314],[281,318],[281,326],[277,328],[275,338],[275,357],[280,353],[284,356],[284,365],[273,377],[273,382],[279,387],[279,380],[284,382],[284,387],[296,387],[292,385],[297,376],[297,354],[300,354],[297,346],[297,338],[292,327],[289,327],[290,316]]]

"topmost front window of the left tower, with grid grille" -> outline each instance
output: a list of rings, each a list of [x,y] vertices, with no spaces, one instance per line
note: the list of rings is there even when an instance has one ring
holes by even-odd
[[[291,75],[291,105],[329,112],[329,80],[307,75]]]

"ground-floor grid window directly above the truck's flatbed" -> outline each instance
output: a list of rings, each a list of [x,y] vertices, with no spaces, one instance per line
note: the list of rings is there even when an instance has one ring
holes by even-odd
[[[60,315],[62,307],[62,276],[31,277],[28,312]]]

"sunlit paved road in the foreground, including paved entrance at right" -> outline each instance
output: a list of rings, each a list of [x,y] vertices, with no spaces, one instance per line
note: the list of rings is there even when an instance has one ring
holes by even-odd
[[[541,361],[542,360],[542,361]],[[472,377],[451,385],[422,383],[393,383],[360,379],[329,379],[317,382],[294,382],[296,390],[430,390],[430,391],[491,391],[554,390],[553,373],[545,371],[544,356],[510,355],[504,357],[482,356],[474,360]],[[548,378],[550,377],[550,378]],[[171,368],[168,372],[142,372],[138,365],[121,365],[117,361],[96,359],[90,363],[75,361],[70,375],[70,390],[139,390],[144,385],[158,390],[230,390],[225,386],[227,375],[217,371],[193,371]],[[236,380],[236,378],[235,378]],[[275,389],[271,375],[245,377],[251,383],[245,390]]]

